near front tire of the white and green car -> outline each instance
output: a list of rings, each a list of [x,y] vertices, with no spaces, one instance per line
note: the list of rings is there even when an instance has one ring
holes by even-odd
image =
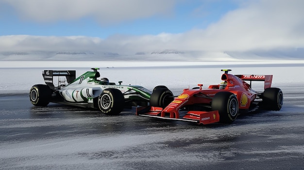
[[[98,97],[98,108],[106,115],[118,115],[124,108],[124,96],[118,89],[105,89]]]

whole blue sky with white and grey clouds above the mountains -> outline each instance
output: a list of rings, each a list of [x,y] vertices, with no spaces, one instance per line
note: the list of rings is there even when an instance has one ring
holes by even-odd
[[[299,55],[303,7],[304,0],[0,0],[0,51]]]

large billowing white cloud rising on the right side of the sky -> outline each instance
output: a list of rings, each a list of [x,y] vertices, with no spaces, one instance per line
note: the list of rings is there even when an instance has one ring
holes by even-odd
[[[270,3],[271,2],[271,3]],[[258,0],[231,11],[206,30],[187,32],[188,48],[254,50],[304,46],[302,0]]]

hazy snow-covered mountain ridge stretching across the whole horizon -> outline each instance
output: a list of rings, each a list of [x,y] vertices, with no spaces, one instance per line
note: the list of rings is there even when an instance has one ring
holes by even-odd
[[[244,52],[164,49],[118,53],[109,51],[0,51],[0,61],[232,61],[252,59],[303,60],[304,49]]]

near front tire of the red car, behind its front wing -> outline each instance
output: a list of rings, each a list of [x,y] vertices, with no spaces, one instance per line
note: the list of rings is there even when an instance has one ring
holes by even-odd
[[[230,92],[216,93],[212,99],[211,108],[212,110],[219,110],[220,123],[233,123],[239,109],[236,95]]]

